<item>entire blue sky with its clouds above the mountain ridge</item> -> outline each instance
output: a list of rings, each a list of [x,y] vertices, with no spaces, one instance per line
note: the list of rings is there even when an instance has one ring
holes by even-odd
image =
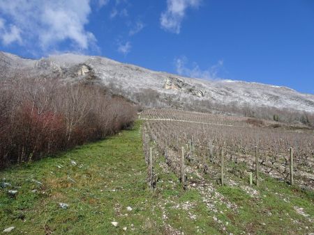
[[[313,0],[0,0],[0,51],[314,94]]]

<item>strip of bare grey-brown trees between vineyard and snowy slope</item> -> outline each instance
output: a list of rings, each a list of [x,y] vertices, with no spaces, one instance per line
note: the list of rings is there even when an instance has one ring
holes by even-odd
[[[166,95],[158,93],[153,89],[142,89],[139,92],[122,90],[110,84],[110,89],[119,95],[125,95],[129,99],[149,108],[178,108],[188,111],[204,113],[221,113],[227,115],[240,115],[264,120],[274,120],[276,122],[286,122],[290,124],[306,124],[314,127],[314,114],[306,111],[298,111],[292,108],[275,108],[269,106],[253,106],[234,101],[228,104],[221,104],[212,99],[191,99],[181,95]]]

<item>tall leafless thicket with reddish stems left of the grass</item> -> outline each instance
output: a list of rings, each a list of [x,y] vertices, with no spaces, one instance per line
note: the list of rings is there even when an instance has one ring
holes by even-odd
[[[104,138],[136,111],[97,86],[20,76],[0,81],[0,168]]]

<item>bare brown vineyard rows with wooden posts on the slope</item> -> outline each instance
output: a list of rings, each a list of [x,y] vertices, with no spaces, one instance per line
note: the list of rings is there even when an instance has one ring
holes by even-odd
[[[140,118],[144,120],[142,136],[147,163],[152,147],[165,156],[168,167],[184,187],[193,184],[188,175],[193,175],[191,169],[195,168],[214,177],[218,184],[223,184],[228,172],[248,182],[251,178],[251,184],[258,184],[258,175],[264,174],[301,188],[314,188],[311,129],[171,109],[145,110]],[[156,161],[154,156],[150,168]],[[149,179],[149,184],[156,186],[152,170]]]

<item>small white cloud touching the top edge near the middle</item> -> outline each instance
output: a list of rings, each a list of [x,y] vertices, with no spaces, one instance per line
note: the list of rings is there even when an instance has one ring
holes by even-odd
[[[160,25],[166,31],[180,33],[187,8],[198,8],[202,0],[167,0],[167,10],[161,13]]]

